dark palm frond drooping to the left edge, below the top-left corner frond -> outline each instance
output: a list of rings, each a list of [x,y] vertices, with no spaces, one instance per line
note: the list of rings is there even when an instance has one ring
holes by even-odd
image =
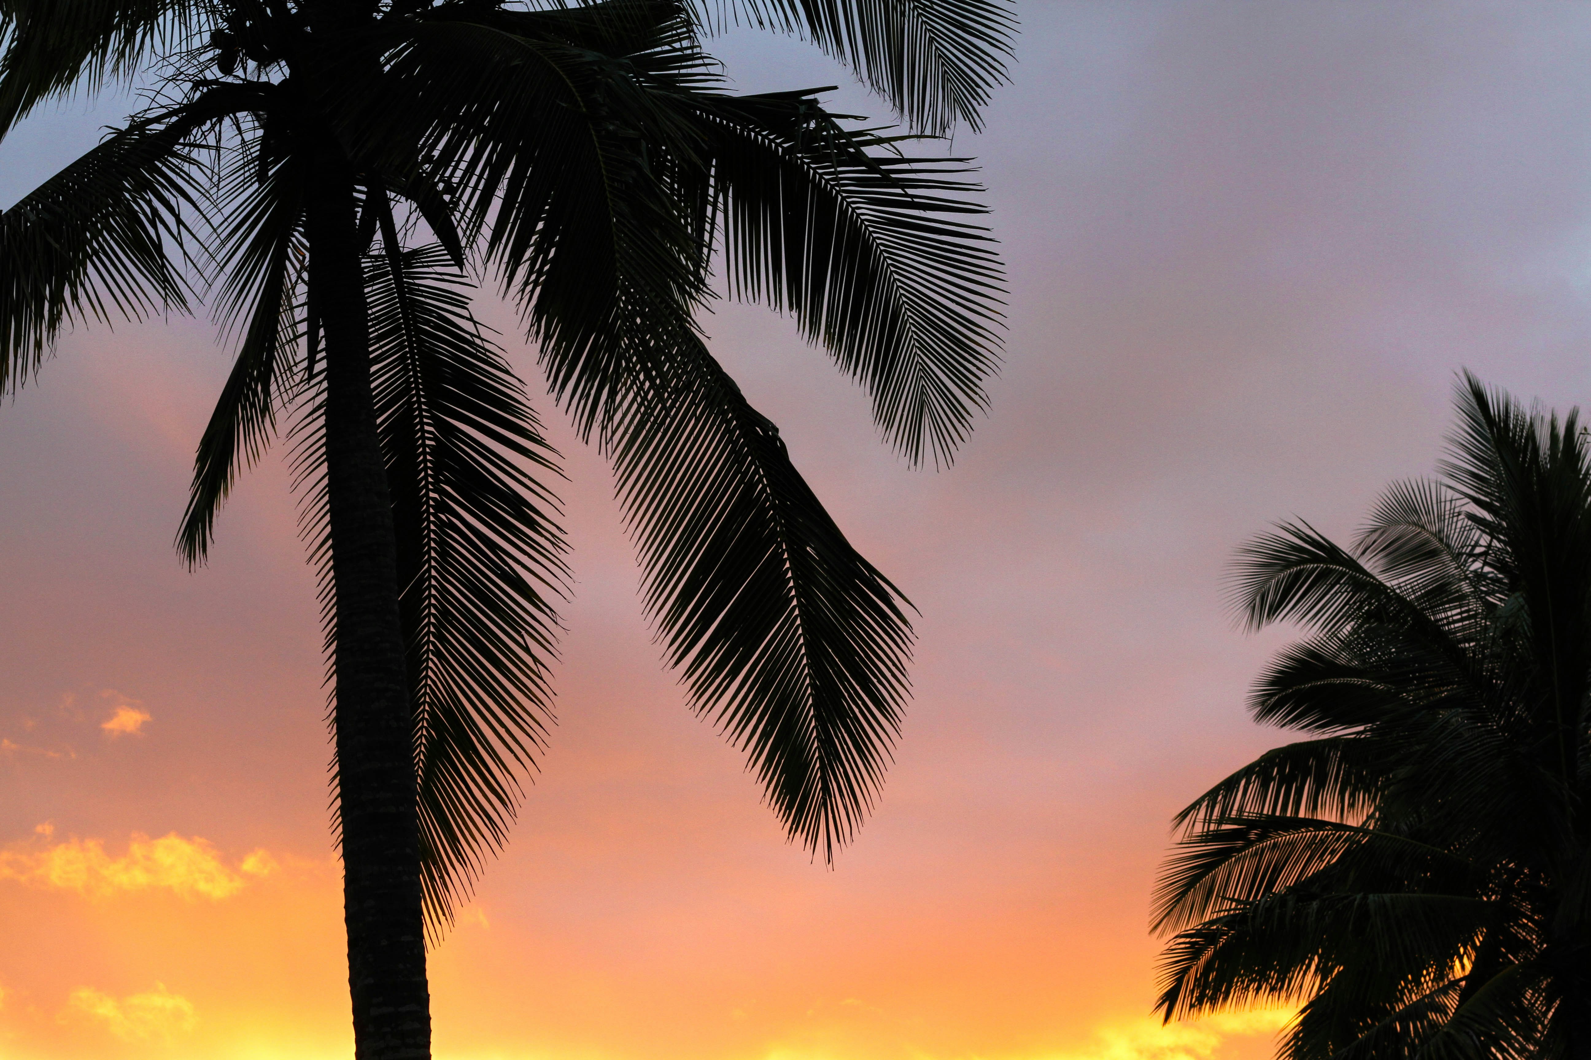
[[[0,215],[0,394],[62,327],[188,311],[185,216],[200,197],[181,130],[140,122]]]

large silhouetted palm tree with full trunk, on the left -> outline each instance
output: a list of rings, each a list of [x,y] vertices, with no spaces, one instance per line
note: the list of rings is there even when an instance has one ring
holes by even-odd
[[[818,92],[732,95],[702,40],[792,32],[907,132]],[[208,297],[237,358],[178,534],[288,434],[321,569],[356,1052],[430,1055],[445,927],[543,745],[563,591],[557,455],[469,311],[522,313],[611,456],[644,598],[694,707],[832,858],[907,693],[908,604],[846,542],[694,323],[722,286],[789,311],[912,461],[983,407],[999,265],[964,159],[1004,76],[1002,0],[0,0],[0,132],[145,75],[146,106],[0,216],[0,391],[64,327]]]

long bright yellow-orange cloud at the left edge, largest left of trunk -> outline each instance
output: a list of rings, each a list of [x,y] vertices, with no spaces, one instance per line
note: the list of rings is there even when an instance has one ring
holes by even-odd
[[[38,834],[49,839],[51,831],[41,826]],[[275,868],[275,858],[255,850],[234,871],[207,841],[183,839],[177,833],[159,839],[134,833],[123,857],[108,855],[102,839],[76,836],[45,849],[30,844],[0,850],[0,880],[95,898],[164,888],[180,898],[220,899],[242,890],[245,877],[267,876]]]

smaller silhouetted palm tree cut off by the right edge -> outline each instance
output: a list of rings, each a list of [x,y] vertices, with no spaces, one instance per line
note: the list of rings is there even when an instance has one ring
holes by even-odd
[[[1309,734],[1177,817],[1158,1009],[1301,1003],[1279,1055],[1591,1057],[1591,453],[1465,373],[1437,482],[1352,548],[1249,544],[1255,685]]]

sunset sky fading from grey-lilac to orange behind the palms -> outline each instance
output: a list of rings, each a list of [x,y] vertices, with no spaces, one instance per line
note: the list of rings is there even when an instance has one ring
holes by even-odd
[[[983,162],[1012,299],[951,470],[893,456],[789,321],[708,321],[923,612],[877,814],[832,871],[783,842],[660,664],[603,462],[541,400],[578,577],[560,725],[433,954],[439,1060],[1268,1052],[1278,1014],[1149,1019],[1168,818],[1281,741],[1243,702],[1286,631],[1236,629],[1222,569],[1273,520],[1346,536],[1429,474],[1461,367],[1591,397],[1591,8],[1020,16],[1015,83],[955,143]],[[845,79],[791,41],[719,52],[745,91]],[[0,203],[123,110],[18,129]],[[0,407],[6,1060],[352,1054],[313,578],[278,456],[207,569],[172,551],[226,369],[202,321],[97,327]]]

